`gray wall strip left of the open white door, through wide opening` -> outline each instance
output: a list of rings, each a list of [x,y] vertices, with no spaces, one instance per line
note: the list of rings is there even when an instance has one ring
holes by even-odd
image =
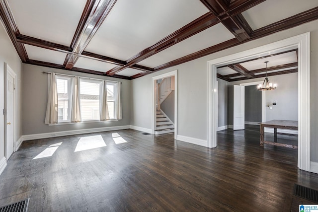
[[[218,127],[228,125],[229,117],[229,82],[223,79],[218,81]]]

